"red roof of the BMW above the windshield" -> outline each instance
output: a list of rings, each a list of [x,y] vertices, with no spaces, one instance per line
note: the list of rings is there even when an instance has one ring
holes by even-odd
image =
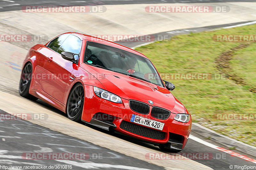
[[[105,44],[105,45],[108,45],[108,46],[120,48],[120,49],[123,49],[125,51],[128,51],[128,52],[140,55],[140,56],[148,59],[148,57],[146,57],[142,53],[140,53],[140,52],[138,52],[138,51],[136,51],[136,50],[134,50],[132,48],[125,47],[125,46],[123,46],[121,44],[117,44],[117,43],[112,42],[112,41],[108,41],[108,40],[104,40],[104,39],[101,39],[101,38],[98,38],[98,37],[94,37],[94,36],[91,36],[91,35],[86,35],[86,34],[76,33],[76,32],[69,32],[69,33],[63,33],[63,34],[75,34],[75,35],[79,36],[80,38],[82,38],[82,40],[98,42],[98,43]]]

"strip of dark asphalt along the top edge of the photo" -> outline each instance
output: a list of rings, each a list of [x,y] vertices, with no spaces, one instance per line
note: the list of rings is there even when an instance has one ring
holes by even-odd
[[[255,2],[255,0],[0,0],[1,11],[21,10],[22,6],[30,5],[59,5],[59,6],[83,6],[83,5],[109,5],[109,4],[159,4],[159,3],[223,3],[223,2]]]

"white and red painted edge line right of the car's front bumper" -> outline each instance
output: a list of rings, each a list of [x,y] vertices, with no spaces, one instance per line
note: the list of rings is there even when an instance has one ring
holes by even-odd
[[[205,146],[209,146],[209,147],[211,147],[211,148],[213,148],[213,149],[217,149],[217,150],[219,150],[219,151],[228,153],[228,154],[230,154],[230,155],[232,155],[232,156],[236,156],[236,157],[238,157],[238,158],[241,158],[241,159],[244,159],[244,160],[246,160],[246,161],[253,162],[253,163],[256,164],[256,160],[255,160],[255,159],[252,159],[252,158],[249,158],[249,157],[247,157],[247,156],[245,156],[245,155],[241,155],[241,154],[239,154],[239,153],[230,151],[230,150],[228,150],[228,149],[225,149],[225,148],[216,146],[216,145],[214,145],[214,144],[211,144],[211,143],[209,143],[209,142],[206,142],[206,141],[204,141],[204,140],[202,140],[202,139],[200,139],[200,138],[198,138],[198,137],[195,137],[195,136],[193,136],[193,135],[189,135],[189,139],[192,139],[192,140],[194,140],[194,141],[196,141],[196,142],[199,142],[199,143],[201,143],[201,144],[204,144]]]

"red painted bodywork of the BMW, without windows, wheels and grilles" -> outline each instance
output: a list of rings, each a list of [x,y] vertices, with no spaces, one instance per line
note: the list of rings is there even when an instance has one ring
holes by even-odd
[[[100,41],[102,44],[120,48],[147,58],[145,55],[142,55],[133,49],[110,41],[101,40],[96,37],[80,33],[68,34],[76,35],[82,39],[82,49],[77,64],[63,59],[59,53],[46,47],[48,43],[46,45],[37,44],[30,48],[23,63],[23,67],[28,62],[32,63],[33,75],[29,88],[29,93],[31,95],[34,95],[37,98],[49,103],[53,107],[66,112],[66,103],[69,92],[76,83],[81,83],[84,85],[85,93],[82,114],[83,121],[90,122],[93,115],[96,113],[115,115],[118,117],[113,121],[113,123],[116,125],[116,131],[131,137],[158,144],[167,143],[170,133],[178,134],[183,137],[182,148],[184,148],[191,130],[191,116],[189,122],[187,123],[174,120],[174,116],[176,114],[181,113],[190,115],[190,113],[181,104],[181,102],[172,95],[170,91],[168,91],[165,87],[148,83],[137,78],[132,78],[121,73],[94,67],[83,62],[87,41]],[[44,74],[51,75],[51,78],[43,78]],[[69,77],[75,79],[72,80]],[[114,103],[99,98],[94,94],[93,86],[118,95],[121,97],[122,103]],[[136,113],[129,106],[129,100],[131,99],[144,103],[148,103],[148,100],[152,100],[154,101],[154,104],[150,105],[150,111],[153,106],[157,106],[171,111],[171,114],[166,120],[160,120],[152,117],[150,113],[148,115]],[[166,133],[165,139],[157,140],[143,137],[121,129],[119,127],[120,123],[123,120],[130,122],[132,114],[165,123],[164,129],[162,130]]]

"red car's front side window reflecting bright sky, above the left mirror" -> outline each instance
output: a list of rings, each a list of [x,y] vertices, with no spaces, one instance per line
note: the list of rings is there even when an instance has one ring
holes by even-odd
[[[79,55],[81,52],[81,47],[82,41],[74,35],[69,35],[68,38],[61,44],[57,52],[62,53],[63,51],[68,51]]]

